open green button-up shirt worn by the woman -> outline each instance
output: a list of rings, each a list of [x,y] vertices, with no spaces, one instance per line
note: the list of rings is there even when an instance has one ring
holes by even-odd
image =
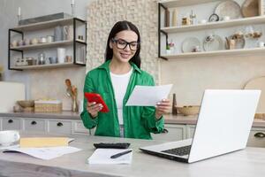
[[[84,99],[84,111],[80,114],[85,127],[91,129],[96,127],[95,135],[120,137],[119,123],[117,119],[117,105],[114,90],[110,79],[110,60],[87,73],[84,92],[98,93],[108,105],[110,112],[99,112],[92,119],[87,112],[87,99]],[[133,66],[133,73],[125,92],[123,101],[123,119],[126,138],[152,139],[150,133],[161,133],[163,131],[163,117],[155,119],[154,106],[125,106],[129,96],[136,85],[153,86],[153,77],[140,70],[137,65]]]

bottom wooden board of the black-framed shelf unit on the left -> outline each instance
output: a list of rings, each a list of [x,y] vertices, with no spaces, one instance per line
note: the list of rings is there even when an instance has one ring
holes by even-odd
[[[72,67],[79,65],[86,65],[82,63],[77,63],[78,65],[71,63],[64,64],[47,64],[47,65],[21,65],[21,66],[11,66],[11,69],[19,69],[19,70],[31,70],[31,69],[50,69],[50,68],[58,68],[58,67]]]

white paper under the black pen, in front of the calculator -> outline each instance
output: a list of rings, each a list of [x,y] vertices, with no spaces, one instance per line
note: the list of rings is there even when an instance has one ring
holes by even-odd
[[[118,158],[111,156],[127,151],[128,149],[96,149],[95,152],[87,159],[88,164],[131,164],[133,151]]]

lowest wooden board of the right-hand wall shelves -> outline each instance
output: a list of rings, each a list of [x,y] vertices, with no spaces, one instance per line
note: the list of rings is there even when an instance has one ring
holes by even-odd
[[[193,53],[180,53],[178,55],[162,55],[163,58],[199,58],[199,57],[214,57],[214,56],[229,56],[229,55],[249,55],[265,52],[264,48],[239,49],[239,50],[217,50],[217,51],[202,51]]]

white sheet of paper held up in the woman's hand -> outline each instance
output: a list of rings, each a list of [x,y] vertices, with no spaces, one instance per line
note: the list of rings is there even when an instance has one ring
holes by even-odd
[[[155,104],[169,96],[171,88],[172,84],[163,86],[135,86],[133,93],[125,105],[155,106]]]

